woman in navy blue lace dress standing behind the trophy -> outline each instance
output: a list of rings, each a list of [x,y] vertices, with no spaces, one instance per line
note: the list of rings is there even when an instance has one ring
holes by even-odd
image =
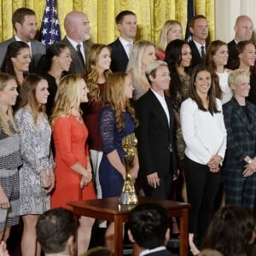
[[[99,126],[102,134],[103,156],[99,168],[102,198],[120,196],[124,180],[125,166],[122,157],[123,137],[134,132],[138,124],[130,99],[134,90],[128,73],[110,74],[106,83],[105,106],[100,114]],[[139,169],[137,154],[131,168],[131,177],[137,178]],[[106,246],[113,250],[113,223],[105,234]]]

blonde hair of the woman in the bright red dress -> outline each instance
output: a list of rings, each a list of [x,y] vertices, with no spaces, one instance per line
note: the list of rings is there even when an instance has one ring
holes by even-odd
[[[69,74],[61,79],[55,96],[55,105],[50,116],[50,124],[53,127],[55,119],[60,116],[68,117],[73,108],[80,105],[80,81],[84,79],[79,74]]]

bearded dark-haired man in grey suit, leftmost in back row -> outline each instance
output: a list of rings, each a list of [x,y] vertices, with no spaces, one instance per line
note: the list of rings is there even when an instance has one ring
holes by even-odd
[[[32,61],[30,64],[30,72],[38,72],[38,62],[42,55],[45,54],[44,44],[34,40],[37,34],[37,17],[32,9],[19,8],[16,9],[12,16],[12,23],[15,28],[15,36],[9,38],[0,44],[0,68],[3,65],[3,59],[7,51],[8,45],[15,41],[23,41],[29,45]]]

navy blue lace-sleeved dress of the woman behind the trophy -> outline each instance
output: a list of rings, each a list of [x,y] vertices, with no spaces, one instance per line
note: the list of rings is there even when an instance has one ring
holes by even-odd
[[[120,159],[125,155],[122,148],[122,139],[134,132],[135,124],[131,119],[131,114],[124,113],[125,128],[118,131],[115,124],[114,111],[111,107],[102,108],[99,119],[99,126],[102,133],[103,156],[99,169],[100,183],[102,186],[102,198],[121,195],[124,179],[122,175],[110,164],[107,154],[114,149],[117,150]],[[123,161],[123,160],[122,160]]]

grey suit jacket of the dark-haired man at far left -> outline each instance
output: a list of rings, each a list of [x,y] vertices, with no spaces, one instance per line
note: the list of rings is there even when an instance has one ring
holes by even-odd
[[[9,44],[15,42],[15,37],[9,38],[6,41],[3,41],[3,43],[0,44],[0,68],[3,65],[3,59],[6,54],[7,48]],[[38,73],[38,63],[43,55],[45,55],[46,48],[44,44],[40,43],[37,40],[31,41],[31,51],[32,51],[32,60],[30,63],[29,71],[31,73]]]

